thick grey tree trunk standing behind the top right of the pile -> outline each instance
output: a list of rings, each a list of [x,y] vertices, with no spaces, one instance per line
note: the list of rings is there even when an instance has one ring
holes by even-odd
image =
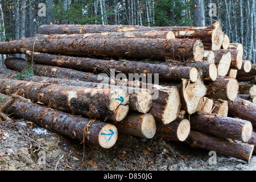
[[[204,18],[204,1],[203,0],[193,0],[194,7],[194,26],[195,27],[204,27],[205,18]]]

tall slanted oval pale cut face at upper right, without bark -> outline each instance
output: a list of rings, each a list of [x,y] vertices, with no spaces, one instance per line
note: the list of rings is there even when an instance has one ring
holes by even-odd
[[[220,63],[218,63],[218,76],[226,76],[228,74],[231,60],[230,52],[226,52],[222,55]]]

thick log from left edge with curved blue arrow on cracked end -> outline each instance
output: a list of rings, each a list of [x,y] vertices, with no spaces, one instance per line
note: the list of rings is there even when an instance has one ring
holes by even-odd
[[[89,118],[122,121],[129,111],[129,96],[122,89],[100,89],[0,79],[1,91],[42,102],[68,113]]]

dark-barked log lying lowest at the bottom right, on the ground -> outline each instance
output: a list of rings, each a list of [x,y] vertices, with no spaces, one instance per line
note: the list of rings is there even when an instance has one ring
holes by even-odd
[[[254,150],[253,144],[219,138],[196,130],[191,130],[188,138],[183,143],[194,148],[216,151],[220,155],[232,156],[246,162],[250,161]]]

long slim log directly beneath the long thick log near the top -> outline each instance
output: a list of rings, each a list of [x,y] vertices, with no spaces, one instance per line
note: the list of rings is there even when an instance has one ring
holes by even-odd
[[[64,68],[72,68],[84,72],[109,73],[114,69],[117,73],[138,73],[139,75],[158,74],[160,80],[181,81],[181,78],[190,79],[192,82],[198,78],[196,68],[191,67],[168,67],[162,64],[141,63],[127,60],[101,60],[88,57],[72,57],[50,55],[32,51],[26,52],[26,60],[38,64],[47,64]],[[131,80],[131,79],[129,79]]]

